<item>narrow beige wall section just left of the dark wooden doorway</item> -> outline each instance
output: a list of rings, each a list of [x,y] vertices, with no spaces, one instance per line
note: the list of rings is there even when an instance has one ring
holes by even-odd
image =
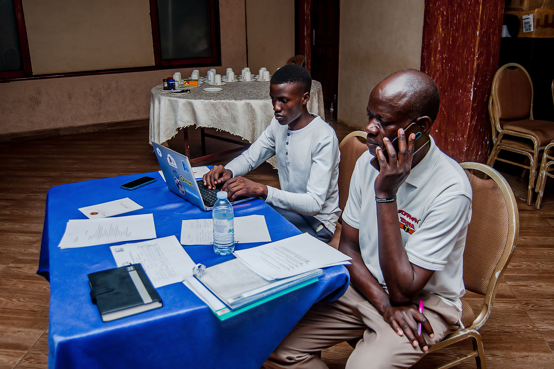
[[[294,0],[246,0],[248,66],[271,74],[294,56]],[[239,70],[240,71],[240,70]]]

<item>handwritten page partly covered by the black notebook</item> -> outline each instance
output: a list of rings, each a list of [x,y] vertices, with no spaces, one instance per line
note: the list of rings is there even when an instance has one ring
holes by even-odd
[[[155,288],[182,282],[196,265],[175,236],[111,246],[110,250],[118,267],[142,264]]]

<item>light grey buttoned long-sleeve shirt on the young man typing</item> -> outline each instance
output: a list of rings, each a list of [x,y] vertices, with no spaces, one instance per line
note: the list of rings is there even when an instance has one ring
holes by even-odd
[[[277,157],[281,190],[268,187],[268,204],[316,217],[331,232],[341,214],[338,207],[338,139],[319,116],[306,127],[290,131],[273,118],[261,136],[225,169],[233,177]]]

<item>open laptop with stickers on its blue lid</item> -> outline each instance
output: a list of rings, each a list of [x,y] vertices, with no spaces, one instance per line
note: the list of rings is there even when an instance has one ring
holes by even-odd
[[[212,210],[217,201],[217,193],[223,184],[218,185],[216,189],[208,189],[207,186],[204,186],[202,178],[194,178],[191,163],[185,155],[155,142],[152,142],[152,146],[158,163],[160,163],[163,176],[166,178],[167,188],[202,210]],[[231,204],[234,205],[253,199],[255,198],[241,196],[232,201]]]

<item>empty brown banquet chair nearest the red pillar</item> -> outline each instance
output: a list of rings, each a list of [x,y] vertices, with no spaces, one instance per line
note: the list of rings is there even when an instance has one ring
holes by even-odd
[[[554,140],[554,123],[533,119],[533,83],[519,64],[503,65],[496,72],[489,100],[494,147],[487,165],[496,161],[529,169],[527,205],[531,205],[538,155]],[[499,158],[501,150],[525,155],[529,165]]]

